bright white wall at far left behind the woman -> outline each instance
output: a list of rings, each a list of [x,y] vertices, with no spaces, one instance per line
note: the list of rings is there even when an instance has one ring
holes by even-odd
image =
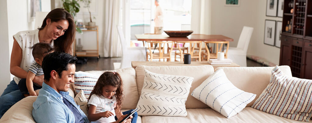
[[[44,11],[50,11],[50,0],[42,0],[41,8]],[[27,17],[27,0],[1,0],[0,1],[0,23],[2,28],[0,30],[1,40],[1,54],[2,58],[1,67],[1,82],[0,82],[0,94],[7,87],[6,85],[14,77],[10,74],[10,57],[13,47],[13,35],[23,30],[33,30],[34,21],[28,22]],[[2,69],[3,68],[3,69]]]

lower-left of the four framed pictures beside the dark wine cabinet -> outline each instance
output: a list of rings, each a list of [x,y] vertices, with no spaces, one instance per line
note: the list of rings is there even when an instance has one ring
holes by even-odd
[[[275,20],[266,20],[264,27],[264,44],[274,46],[275,43]]]

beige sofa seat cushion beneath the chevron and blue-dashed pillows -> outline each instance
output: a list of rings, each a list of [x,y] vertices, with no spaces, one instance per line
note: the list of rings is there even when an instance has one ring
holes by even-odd
[[[226,118],[219,112],[211,108],[204,109],[186,109],[187,117],[170,116],[142,116],[142,122],[154,123],[312,123],[290,120],[284,117],[272,115],[266,112],[256,110],[251,107],[244,108],[241,112]]]

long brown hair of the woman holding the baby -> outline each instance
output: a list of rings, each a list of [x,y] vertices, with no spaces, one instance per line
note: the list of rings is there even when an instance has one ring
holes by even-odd
[[[76,25],[73,16],[63,8],[53,9],[46,15],[39,30],[43,30],[46,26],[46,19],[50,18],[51,22],[59,20],[67,20],[69,25],[64,35],[54,40],[54,49],[57,52],[65,52],[71,54],[71,44],[74,42],[76,35]]]

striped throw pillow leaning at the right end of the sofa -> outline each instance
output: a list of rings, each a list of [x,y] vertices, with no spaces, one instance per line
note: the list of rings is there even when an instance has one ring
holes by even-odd
[[[312,106],[312,80],[286,76],[276,66],[269,85],[252,105],[263,112],[296,121],[309,121]]]

